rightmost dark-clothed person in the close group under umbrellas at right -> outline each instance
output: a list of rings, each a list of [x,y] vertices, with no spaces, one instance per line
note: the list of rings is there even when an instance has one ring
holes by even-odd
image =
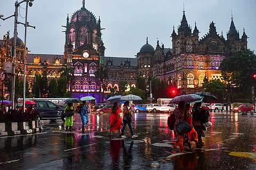
[[[201,116],[201,102],[195,103],[192,108],[192,120],[193,126],[197,132],[198,143],[196,145],[204,146],[204,142],[202,141],[202,137],[205,137],[203,127],[202,127],[202,116]]]

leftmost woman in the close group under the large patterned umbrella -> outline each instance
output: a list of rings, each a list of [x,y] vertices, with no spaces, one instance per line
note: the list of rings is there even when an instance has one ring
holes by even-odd
[[[174,118],[175,118],[175,124],[180,123],[183,121],[184,118],[184,109],[185,108],[185,101],[179,101],[178,108],[175,108],[173,111]],[[178,134],[176,130],[176,126],[174,124],[174,145],[173,149],[178,150],[177,146],[179,145],[180,152],[186,153],[183,147],[183,139],[182,135]]]

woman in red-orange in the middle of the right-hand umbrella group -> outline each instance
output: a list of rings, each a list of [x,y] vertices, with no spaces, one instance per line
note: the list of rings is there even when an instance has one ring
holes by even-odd
[[[190,114],[190,104],[189,103],[186,103],[185,104],[185,109],[184,109],[184,121],[187,121],[188,124],[193,128],[193,125],[192,125],[192,115]],[[187,143],[188,144],[188,148],[189,150],[191,150],[191,144],[190,144],[190,134],[191,134],[191,131],[188,132],[188,133],[185,133],[183,135],[183,143]]]

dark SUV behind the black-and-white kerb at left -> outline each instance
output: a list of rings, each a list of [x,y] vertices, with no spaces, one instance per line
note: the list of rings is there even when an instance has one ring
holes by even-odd
[[[34,100],[35,107],[38,112],[38,120],[51,120],[55,121],[56,119],[61,118],[62,121],[65,121],[64,107],[59,107],[48,100]]]

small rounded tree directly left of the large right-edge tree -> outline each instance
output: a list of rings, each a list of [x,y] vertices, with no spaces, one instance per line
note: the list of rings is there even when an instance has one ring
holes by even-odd
[[[226,97],[226,86],[220,80],[205,81],[203,87],[205,92],[210,92],[210,94],[216,96],[222,102],[223,98]]]

